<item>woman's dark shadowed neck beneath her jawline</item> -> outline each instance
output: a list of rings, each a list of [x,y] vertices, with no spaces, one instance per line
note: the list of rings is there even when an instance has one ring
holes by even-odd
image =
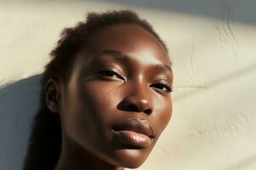
[[[66,141],[66,140],[62,140]],[[124,167],[118,167],[102,161],[93,156],[88,151],[84,151],[77,144],[63,142],[61,145],[61,156],[54,170],[125,170]]]

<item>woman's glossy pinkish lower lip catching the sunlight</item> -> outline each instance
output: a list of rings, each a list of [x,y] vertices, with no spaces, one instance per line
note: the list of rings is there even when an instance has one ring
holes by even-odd
[[[151,143],[151,139],[142,133],[136,133],[129,130],[113,130],[113,133],[125,144],[130,144],[137,147],[147,147]]]

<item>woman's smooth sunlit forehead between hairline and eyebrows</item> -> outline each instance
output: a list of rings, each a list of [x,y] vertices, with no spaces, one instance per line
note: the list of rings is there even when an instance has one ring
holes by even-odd
[[[119,24],[102,28],[90,37],[85,53],[90,57],[105,50],[120,51],[143,64],[170,64],[161,43],[137,25]]]

